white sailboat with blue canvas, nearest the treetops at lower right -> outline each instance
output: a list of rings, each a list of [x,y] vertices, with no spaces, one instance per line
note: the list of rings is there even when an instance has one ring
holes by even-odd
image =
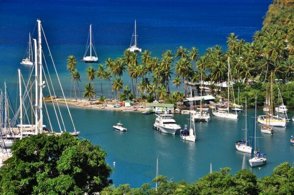
[[[251,167],[258,167],[258,166],[262,166],[265,165],[267,163],[267,159],[266,159],[266,154],[265,153],[261,153],[259,151],[256,150],[256,102],[257,102],[257,95],[255,97],[255,117],[254,117],[254,150],[252,148],[251,151],[251,158],[249,159],[249,164]]]

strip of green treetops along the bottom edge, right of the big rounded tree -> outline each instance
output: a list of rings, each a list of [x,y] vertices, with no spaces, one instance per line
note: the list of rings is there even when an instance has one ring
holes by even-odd
[[[141,188],[130,188],[124,184],[115,188],[109,186],[103,189],[101,195],[293,195],[294,168],[289,163],[277,166],[270,176],[260,180],[249,170],[240,170],[235,176],[229,173],[229,168],[214,171],[200,178],[195,183],[184,181],[168,181],[167,177],[158,176],[152,180],[157,182],[157,191],[150,184]]]

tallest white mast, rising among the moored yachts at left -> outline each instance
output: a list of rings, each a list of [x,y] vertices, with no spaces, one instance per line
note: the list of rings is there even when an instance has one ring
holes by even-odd
[[[38,42],[39,42],[39,83],[40,83],[40,100],[39,100],[39,109],[40,109],[40,122],[39,122],[39,130],[42,133],[43,130],[43,79],[42,79],[42,39],[41,39],[41,21],[38,22]]]

